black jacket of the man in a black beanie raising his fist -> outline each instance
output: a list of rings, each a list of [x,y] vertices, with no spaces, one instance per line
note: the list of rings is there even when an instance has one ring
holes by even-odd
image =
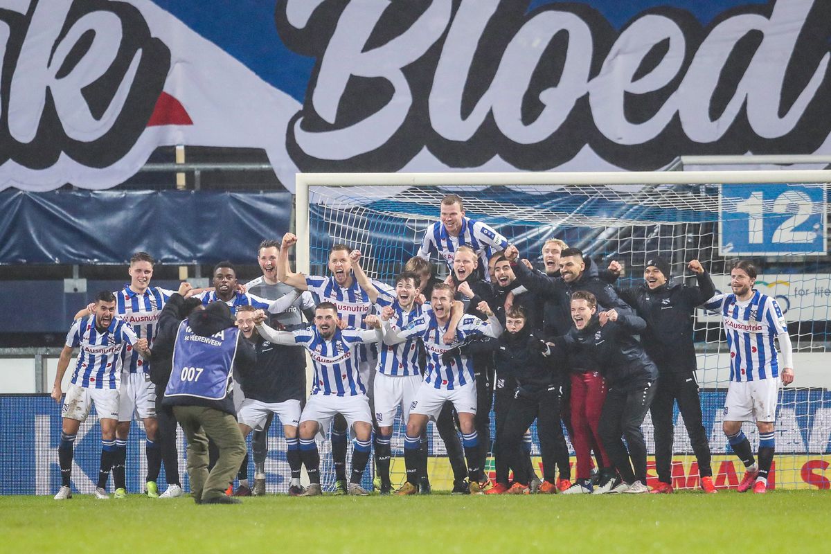
[[[647,321],[641,341],[649,357],[661,372],[696,370],[693,345],[693,314],[715,294],[715,285],[707,272],[696,275],[698,287],[668,281],[655,290],[642,287],[619,291],[638,316]]]

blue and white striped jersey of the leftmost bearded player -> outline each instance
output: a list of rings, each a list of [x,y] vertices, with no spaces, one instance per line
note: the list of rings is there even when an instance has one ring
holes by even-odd
[[[118,389],[121,353],[130,354],[138,340],[132,327],[117,317],[103,332],[96,328],[94,314],[77,319],[66,333],[66,346],[81,349],[71,383],[86,389]]]

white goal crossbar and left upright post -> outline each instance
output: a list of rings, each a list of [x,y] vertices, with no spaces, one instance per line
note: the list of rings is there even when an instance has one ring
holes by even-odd
[[[420,186],[467,185],[604,185],[604,184],[813,184],[831,183],[831,169],[765,169],[737,171],[585,171],[503,172],[454,171],[447,173],[297,173],[294,177],[296,271],[311,267],[309,189],[314,186]]]

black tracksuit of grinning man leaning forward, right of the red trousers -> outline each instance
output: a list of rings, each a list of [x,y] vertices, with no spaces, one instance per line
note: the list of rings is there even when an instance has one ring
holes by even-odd
[[[641,425],[655,396],[658,376],[635,338],[646,327],[640,317],[618,312],[617,321],[600,326],[593,316],[583,330],[573,327],[555,340],[571,358],[591,357],[601,368],[608,391],[597,431],[617,472],[630,484],[647,483],[647,444]],[[628,453],[621,437],[627,441]]]

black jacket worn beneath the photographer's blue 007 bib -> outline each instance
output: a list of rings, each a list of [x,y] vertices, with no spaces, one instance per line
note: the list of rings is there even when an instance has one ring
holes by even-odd
[[[225,306],[224,302],[211,302],[203,311],[194,312],[188,318],[188,325],[196,335],[213,336],[219,331],[233,327],[234,318],[230,315],[228,306]],[[253,345],[245,339],[242,333],[239,333],[237,336],[237,353],[234,356],[234,371],[238,375],[238,380],[244,380],[246,375],[250,374],[254,361]],[[204,406],[236,415],[233,390],[225,395],[223,400],[210,400],[188,395],[165,396],[162,404],[165,406]]]

